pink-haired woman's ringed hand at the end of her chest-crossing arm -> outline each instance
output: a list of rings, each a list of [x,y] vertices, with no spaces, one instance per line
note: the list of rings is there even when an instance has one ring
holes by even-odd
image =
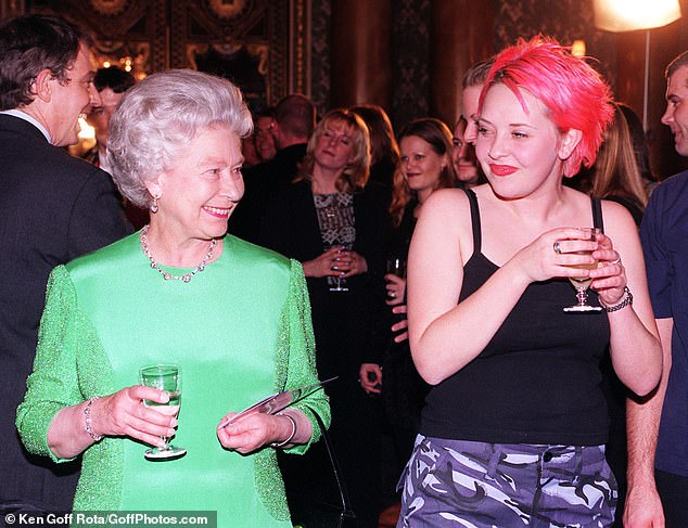
[[[561,253],[557,253],[556,247]],[[585,229],[557,228],[540,234],[519,250],[509,263],[519,268],[528,284],[552,278],[581,276],[588,271],[571,266],[594,263],[595,259],[575,252],[593,252],[597,247],[598,243],[589,240],[589,231]]]

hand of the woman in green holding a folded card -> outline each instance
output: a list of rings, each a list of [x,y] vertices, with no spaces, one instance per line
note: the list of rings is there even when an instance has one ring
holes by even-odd
[[[230,412],[222,418],[237,415]],[[226,427],[218,427],[217,438],[226,449],[249,454],[262,447],[289,438],[292,433],[291,421],[279,414],[256,413],[242,417]]]

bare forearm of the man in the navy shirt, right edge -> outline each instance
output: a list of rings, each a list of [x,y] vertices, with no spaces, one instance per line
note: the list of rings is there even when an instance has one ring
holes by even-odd
[[[657,390],[646,400],[626,401],[626,430],[628,433],[628,492],[624,511],[627,528],[663,527],[664,513],[654,484],[654,453],[659,437],[660,418],[672,369],[672,332],[674,320],[658,319],[662,343],[662,379]]]

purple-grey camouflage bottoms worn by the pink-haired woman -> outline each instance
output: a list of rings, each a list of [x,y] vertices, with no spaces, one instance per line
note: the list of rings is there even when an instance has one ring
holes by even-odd
[[[616,480],[604,446],[535,446],[419,435],[397,528],[607,527]]]

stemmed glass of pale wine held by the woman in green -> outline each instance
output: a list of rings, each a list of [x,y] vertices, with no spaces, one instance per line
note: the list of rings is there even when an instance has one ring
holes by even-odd
[[[141,385],[165,390],[169,395],[169,401],[167,403],[143,400],[145,407],[150,407],[167,416],[176,416],[179,413],[179,405],[181,403],[181,371],[179,365],[166,363],[143,366],[139,371],[139,377]],[[144,453],[146,459],[170,459],[186,454],[186,449],[173,446],[166,437],[162,438],[165,440],[165,446],[146,450]]]

